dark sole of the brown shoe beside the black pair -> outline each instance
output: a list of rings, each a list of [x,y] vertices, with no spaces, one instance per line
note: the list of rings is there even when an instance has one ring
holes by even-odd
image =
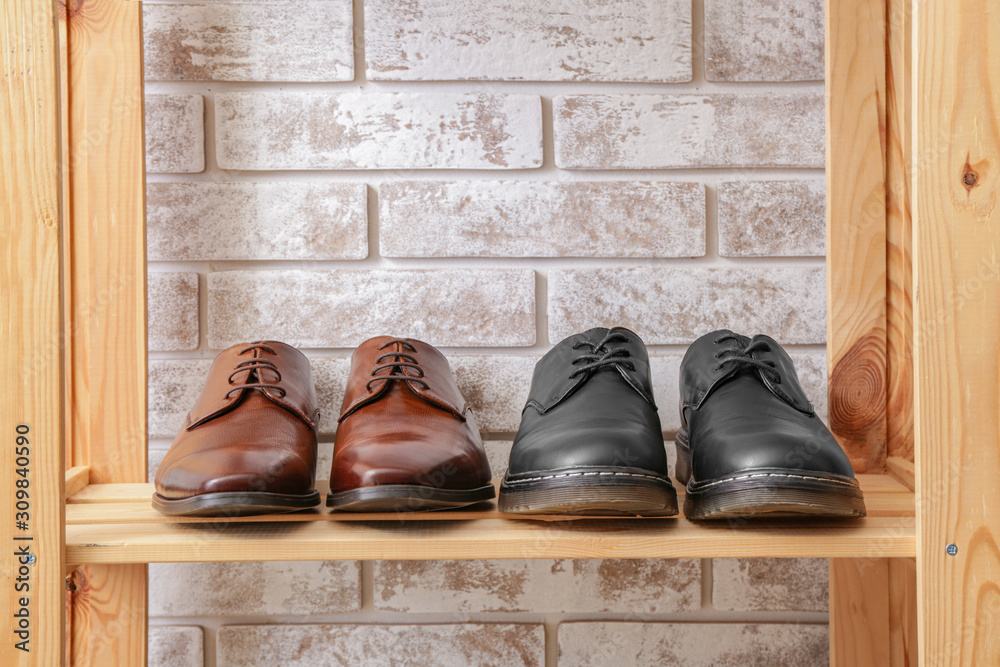
[[[474,489],[386,484],[330,493],[326,506],[338,512],[427,512],[466,507],[495,497],[496,488],[492,484]]]

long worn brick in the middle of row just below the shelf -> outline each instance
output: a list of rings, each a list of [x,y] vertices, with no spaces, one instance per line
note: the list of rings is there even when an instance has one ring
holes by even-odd
[[[475,560],[375,564],[375,608],[635,612],[701,608],[701,561]]]

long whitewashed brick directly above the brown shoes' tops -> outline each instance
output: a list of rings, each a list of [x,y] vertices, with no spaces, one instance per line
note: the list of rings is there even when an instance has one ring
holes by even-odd
[[[208,344],[354,347],[389,333],[438,346],[527,346],[534,299],[525,269],[225,271],[208,276]]]

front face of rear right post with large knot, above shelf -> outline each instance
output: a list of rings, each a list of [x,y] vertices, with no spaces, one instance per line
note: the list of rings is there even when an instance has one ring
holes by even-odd
[[[858,472],[886,438],[885,5],[827,0],[830,428]]]

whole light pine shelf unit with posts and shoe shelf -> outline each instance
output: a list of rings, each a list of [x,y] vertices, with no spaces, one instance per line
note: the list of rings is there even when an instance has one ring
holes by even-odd
[[[1000,664],[994,4],[826,2],[829,414],[870,516],[695,524],[153,512],[141,4],[6,1],[0,424],[28,428],[32,514],[0,537],[37,560],[34,651],[0,664],[144,664],[149,562],[734,556],[831,559],[837,667]]]

